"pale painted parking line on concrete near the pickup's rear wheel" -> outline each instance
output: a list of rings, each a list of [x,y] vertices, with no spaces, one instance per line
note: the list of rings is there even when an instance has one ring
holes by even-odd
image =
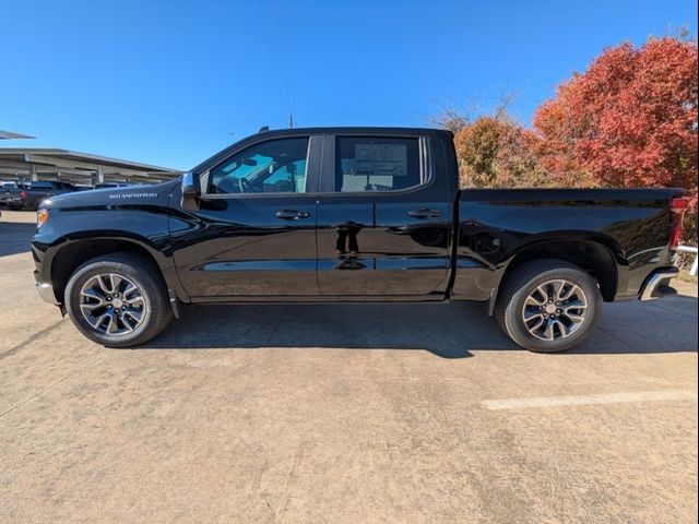
[[[481,401],[486,409],[522,409],[529,407],[583,406],[590,404],[621,404],[629,402],[696,401],[696,390],[637,391],[592,395],[534,396]]]

